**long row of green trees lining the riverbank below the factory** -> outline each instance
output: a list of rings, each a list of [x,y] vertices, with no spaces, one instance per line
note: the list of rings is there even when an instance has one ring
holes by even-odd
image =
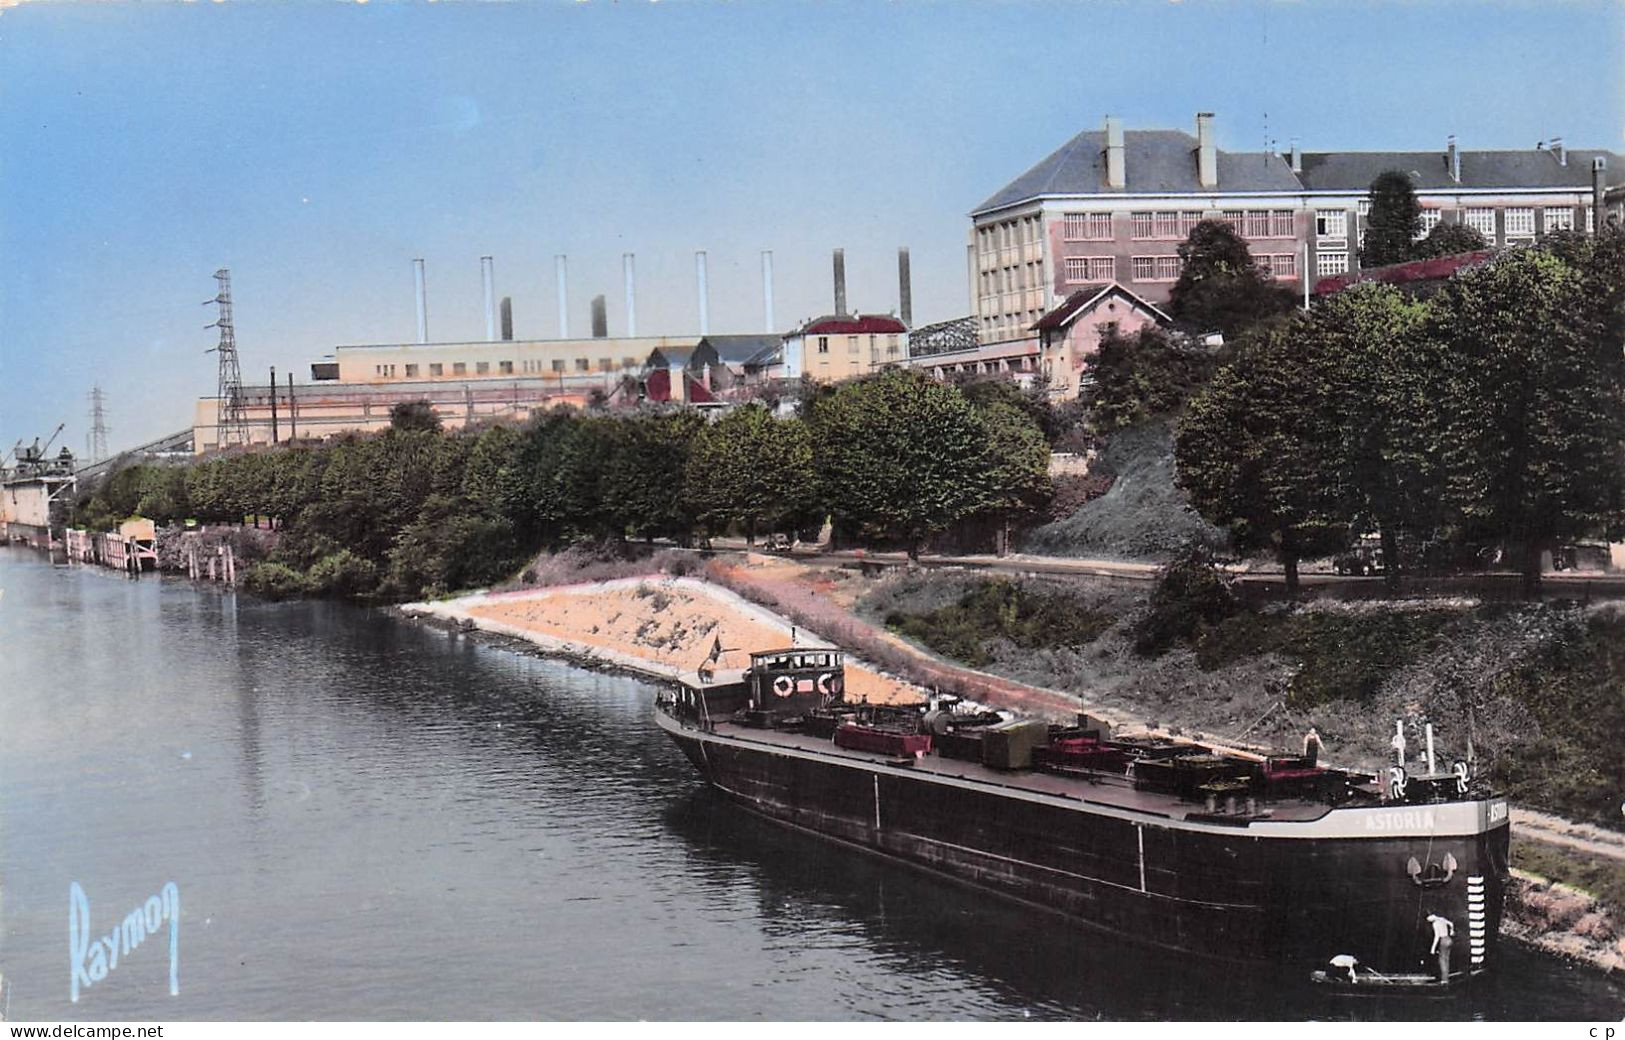
[[[408,405],[379,436],[122,470],[76,522],[270,517],[283,535],[263,580],[406,598],[489,583],[577,538],[754,538],[829,518],[837,538],[918,552],[956,526],[1035,515],[1050,492],[1045,410],[1009,384],[890,370],[801,413],[559,410],[442,432]]]

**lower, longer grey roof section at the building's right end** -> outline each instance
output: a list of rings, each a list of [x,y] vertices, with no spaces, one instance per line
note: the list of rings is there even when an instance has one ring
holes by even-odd
[[[1625,182],[1625,159],[1594,148],[1570,148],[1568,164],[1550,151],[1461,151],[1461,184],[1450,179],[1443,151],[1320,151],[1303,154],[1303,187],[1311,192],[1363,192],[1378,174],[1398,169],[1417,190],[1591,188],[1591,159],[1607,159],[1607,184]]]

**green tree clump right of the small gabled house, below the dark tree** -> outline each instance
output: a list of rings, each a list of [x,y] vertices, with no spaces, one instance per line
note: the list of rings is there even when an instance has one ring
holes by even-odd
[[[1180,343],[1160,327],[1147,325],[1124,336],[1113,322],[1100,338],[1100,349],[1084,359],[1081,400],[1089,408],[1089,426],[1105,436],[1175,414],[1212,379],[1216,367],[1212,351]]]

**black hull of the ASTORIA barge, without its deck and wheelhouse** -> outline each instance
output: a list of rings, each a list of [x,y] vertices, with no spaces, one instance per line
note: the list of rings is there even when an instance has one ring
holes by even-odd
[[[1436,972],[1432,913],[1456,926],[1451,977],[1495,960],[1505,821],[1477,834],[1289,837],[1019,798],[897,762],[785,754],[660,723],[746,809],[1152,947],[1303,977],[1336,956],[1384,973]],[[1446,856],[1446,881],[1436,869],[1430,884],[1412,878],[1412,860]]]

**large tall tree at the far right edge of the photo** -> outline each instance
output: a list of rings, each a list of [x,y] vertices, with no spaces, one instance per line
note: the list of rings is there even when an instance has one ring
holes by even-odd
[[[1547,250],[1513,252],[1450,280],[1428,330],[1456,361],[1450,496],[1516,551],[1529,596],[1544,551],[1620,515],[1625,359],[1618,296],[1597,284]]]

